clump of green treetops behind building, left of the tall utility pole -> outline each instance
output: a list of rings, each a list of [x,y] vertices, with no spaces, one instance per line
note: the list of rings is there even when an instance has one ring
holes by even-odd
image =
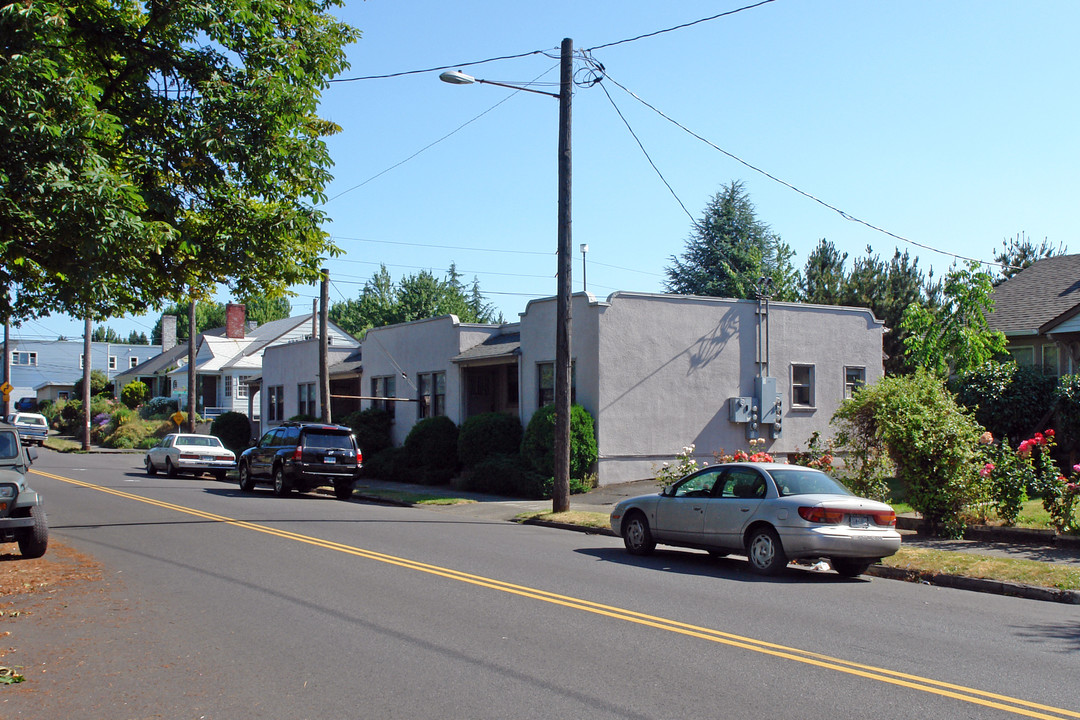
[[[481,294],[478,281],[474,279],[472,286],[467,287],[453,264],[442,280],[421,270],[397,283],[387,267],[380,266],[364,284],[359,298],[335,302],[329,310],[330,320],[356,337],[372,327],[450,314],[464,323],[502,322],[501,313]]]

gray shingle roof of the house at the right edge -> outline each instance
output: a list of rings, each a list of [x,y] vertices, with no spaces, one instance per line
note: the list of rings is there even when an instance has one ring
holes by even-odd
[[[1080,255],[1032,263],[994,289],[990,327],[1005,335],[1045,332],[1080,312]]]

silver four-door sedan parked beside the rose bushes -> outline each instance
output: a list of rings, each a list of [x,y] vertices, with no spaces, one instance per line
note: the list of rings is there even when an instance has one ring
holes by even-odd
[[[853,578],[900,549],[892,507],[853,495],[821,471],[779,463],[705,467],[658,494],[620,502],[611,529],[635,555],[657,543],[745,553],[761,574],[788,560],[827,558]]]

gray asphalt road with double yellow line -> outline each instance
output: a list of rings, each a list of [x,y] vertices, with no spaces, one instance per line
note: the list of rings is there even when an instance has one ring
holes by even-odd
[[[105,567],[0,718],[1078,718],[1075,607],[41,453]],[[32,621],[33,619],[28,619]],[[48,671],[44,671],[48,670]]]

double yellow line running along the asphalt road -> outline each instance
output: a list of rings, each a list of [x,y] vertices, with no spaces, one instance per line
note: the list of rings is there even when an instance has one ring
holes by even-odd
[[[489,589],[499,590],[502,593],[509,593],[511,595],[517,595],[532,600],[549,602],[551,604],[562,606],[564,608],[570,608],[573,610],[580,610],[582,612],[589,612],[595,615],[603,615],[605,617],[620,620],[627,623],[634,623],[636,625],[644,625],[646,627],[652,627],[660,630],[666,630],[669,633],[676,633],[678,635],[685,635],[688,637],[698,638],[700,640],[718,642],[720,644],[730,646],[732,648],[751,650],[753,652],[761,653],[765,655],[771,655],[773,657],[780,657],[796,663],[802,663],[805,665],[812,665],[814,667],[835,670],[837,673],[853,675],[868,680],[877,680],[879,682],[900,685],[902,688],[917,690],[920,692],[930,693],[932,695],[950,697],[953,699],[962,701],[964,703],[971,703],[973,705],[990,707],[998,710],[1003,710],[1005,712],[1012,712],[1014,715],[1020,715],[1028,718],[1040,718],[1043,720],[1061,720],[1062,718],[1080,719],[1080,712],[1066,710],[1064,708],[1057,708],[1050,705],[1041,705],[1039,703],[1031,703],[1028,701],[1010,697],[1008,695],[1000,695],[997,693],[976,690],[974,688],[967,688],[964,685],[953,684],[949,682],[941,682],[939,680],[923,678],[917,675],[899,673],[895,670],[875,667],[872,665],[862,665],[859,663],[852,663],[839,657],[832,657],[829,655],[823,655],[820,653],[809,652],[806,650],[799,650],[797,648],[788,648],[772,642],[766,642],[764,640],[755,640],[754,638],[732,635],[730,633],[714,630],[712,628],[701,627],[698,625],[680,623],[678,621],[667,620],[665,617],[648,615],[645,613],[635,612],[633,610],[625,610],[613,606],[607,606],[598,602],[592,602],[590,600],[569,597],[566,595],[557,595],[555,593],[549,593],[546,590],[541,590],[525,585],[515,585],[513,583],[505,583],[500,580],[494,580],[491,578],[485,578],[483,575],[474,575],[467,572],[460,572],[458,570],[451,570],[449,568],[443,568],[441,566],[428,565],[426,562],[418,562],[416,560],[409,560],[393,555],[387,555],[384,553],[377,553],[375,551],[363,549],[361,547],[354,547],[352,545],[343,545],[341,543],[335,543],[328,540],[313,538],[311,535],[302,535],[296,532],[289,532],[287,530],[280,530],[265,525],[257,525],[255,522],[245,522],[243,520],[226,517],[224,515],[206,513],[200,510],[186,507],[184,505],[175,505],[173,503],[166,503],[160,500],[153,500],[151,498],[145,498],[141,495],[132,494],[130,492],[124,492],[122,490],[114,490],[112,488],[107,488],[99,485],[94,485],[91,483],[85,483],[82,480],[64,477],[62,475],[53,475],[51,473],[45,473],[38,470],[33,470],[31,472],[38,475],[42,475],[44,477],[53,478],[55,480],[68,483],[70,485],[76,485],[91,490],[97,490],[99,492],[116,495],[118,498],[123,498],[125,500],[134,500],[136,502],[146,503],[148,505],[153,505],[156,507],[174,511],[176,513],[181,513],[184,515],[190,515],[204,520],[222,522],[225,525],[231,525],[237,528],[243,528],[244,530],[261,532],[264,534],[273,535],[275,538],[281,538],[283,540],[291,540],[293,542],[313,545],[315,547],[322,547],[324,549],[335,551],[337,553],[352,555],[354,557],[362,557],[368,560],[376,560],[378,562],[386,562],[387,565],[393,565],[400,568],[405,568],[417,572],[424,572],[431,575],[446,578],[447,580],[455,580],[462,583],[469,583],[470,585],[487,587]]]

